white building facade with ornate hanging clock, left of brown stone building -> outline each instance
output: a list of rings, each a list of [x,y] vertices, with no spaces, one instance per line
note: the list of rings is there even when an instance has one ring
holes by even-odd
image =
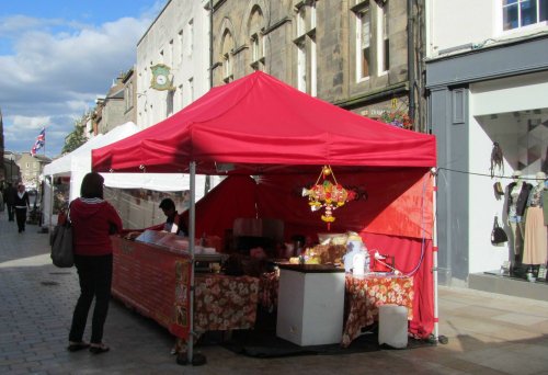
[[[137,125],[147,128],[210,88],[208,0],[169,0],[137,43]],[[157,69],[164,69],[159,84]]]

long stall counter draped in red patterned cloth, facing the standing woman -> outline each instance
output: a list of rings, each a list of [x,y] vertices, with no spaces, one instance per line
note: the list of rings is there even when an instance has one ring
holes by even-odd
[[[186,341],[191,332],[191,255],[184,250],[184,239],[152,232],[140,240],[114,236],[112,240],[113,296],[165,327],[178,341]],[[215,264],[224,257],[196,248],[202,252],[195,255],[196,262]],[[194,284],[196,333],[254,327],[259,279],[196,273]]]

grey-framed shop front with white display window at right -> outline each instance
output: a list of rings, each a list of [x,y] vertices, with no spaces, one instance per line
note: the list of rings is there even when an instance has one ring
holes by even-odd
[[[437,175],[443,284],[546,299],[543,285],[533,285],[545,284],[546,241],[534,258],[525,245],[526,211],[536,204],[525,197],[516,214],[513,188],[545,183],[547,48],[548,38],[539,37],[427,64],[432,130],[444,150]],[[509,241],[491,242],[495,218]],[[537,228],[545,232],[546,223]]]

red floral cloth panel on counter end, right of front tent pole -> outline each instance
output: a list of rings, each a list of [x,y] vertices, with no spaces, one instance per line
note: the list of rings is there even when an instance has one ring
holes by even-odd
[[[196,274],[194,330],[250,329],[255,325],[259,279]]]

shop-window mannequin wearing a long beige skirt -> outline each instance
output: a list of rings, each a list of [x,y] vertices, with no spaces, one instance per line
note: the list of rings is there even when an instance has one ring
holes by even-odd
[[[523,251],[524,264],[546,264],[547,227],[544,219],[544,195],[546,173],[536,174],[536,185],[530,191],[527,200],[527,223],[525,224],[525,246]]]

